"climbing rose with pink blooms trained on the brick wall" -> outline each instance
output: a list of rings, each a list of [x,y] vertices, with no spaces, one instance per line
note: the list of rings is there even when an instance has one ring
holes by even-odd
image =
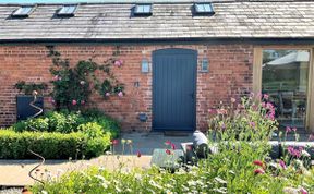
[[[69,59],[62,59],[61,53],[53,47],[47,48],[53,64],[50,69],[53,75],[50,101],[57,109],[80,109],[89,100],[94,90],[105,99],[109,99],[112,95],[119,97],[124,95],[124,84],[120,83],[111,71],[112,65],[120,68],[123,64],[123,61],[118,59],[119,52],[114,51],[112,57],[102,64],[88,59],[70,66]],[[97,72],[104,74],[100,76],[100,73]]]

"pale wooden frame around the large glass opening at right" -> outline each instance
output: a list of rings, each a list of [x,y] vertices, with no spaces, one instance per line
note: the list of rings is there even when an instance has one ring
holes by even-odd
[[[305,130],[314,132],[314,63],[313,63],[313,47],[256,47],[253,53],[253,85],[252,90],[255,94],[262,92],[262,64],[263,64],[263,50],[307,50],[310,53],[309,60],[309,81],[307,81],[307,96],[306,96],[306,116],[305,116]]]

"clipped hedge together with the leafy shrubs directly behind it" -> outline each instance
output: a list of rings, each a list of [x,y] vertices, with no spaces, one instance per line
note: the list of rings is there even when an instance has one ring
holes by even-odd
[[[119,124],[97,112],[49,112],[0,130],[1,159],[84,159],[109,149]]]

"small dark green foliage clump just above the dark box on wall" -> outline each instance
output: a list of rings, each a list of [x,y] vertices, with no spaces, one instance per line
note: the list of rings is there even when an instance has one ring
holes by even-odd
[[[32,95],[34,90],[43,95],[43,92],[46,90],[48,86],[46,83],[36,84],[19,81],[14,87],[19,89],[19,92],[23,92],[25,95]]]

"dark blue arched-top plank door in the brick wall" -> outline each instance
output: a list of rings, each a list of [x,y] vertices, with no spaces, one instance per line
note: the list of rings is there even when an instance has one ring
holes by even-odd
[[[153,52],[153,129],[195,130],[197,52]]]

